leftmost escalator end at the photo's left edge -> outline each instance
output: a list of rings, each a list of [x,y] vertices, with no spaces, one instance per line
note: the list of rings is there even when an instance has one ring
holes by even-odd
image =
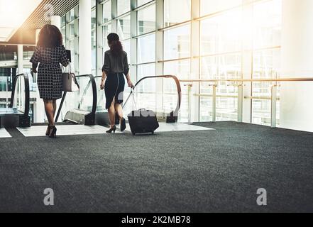
[[[8,86],[6,92],[8,93]],[[30,89],[28,74],[18,74],[12,78],[11,100],[6,100],[6,107],[0,108],[1,127],[30,127],[29,116]]]

